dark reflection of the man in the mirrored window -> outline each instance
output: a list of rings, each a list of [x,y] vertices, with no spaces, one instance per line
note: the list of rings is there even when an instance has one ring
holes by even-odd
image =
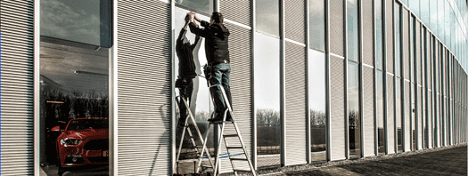
[[[179,94],[185,100],[192,100],[193,92],[193,78],[197,76],[195,72],[195,63],[193,62],[193,49],[200,41],[200,36],[195,37],[195,43],[190,44],[185,36],[187,32],[188,23],[190,16],[185,16],[185,26],[180,30],[179,36],[176,42],[176,52],[179,59],[179,71],[176,81],[176,87],[179,89]],[[184,126],[185,119],[187,118],[187,108],[185,107],[184,100],[179,102],[180,118],[177,123],[178,126]]]

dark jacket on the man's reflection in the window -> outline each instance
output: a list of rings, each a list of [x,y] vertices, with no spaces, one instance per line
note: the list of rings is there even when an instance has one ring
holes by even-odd
[[[182,28],[179,33],[179,37],[177,38],[176,43],[176,53],[179,59],[179,76],[183,78],[191,78],[193,79],[197,76],[195,72],[195,62],[193,62],[193,48],[197,45],[198,41],[200,40],[200,36],[195,37],[195,43],[185,43],[184,44],[184,33],[187,30]]]

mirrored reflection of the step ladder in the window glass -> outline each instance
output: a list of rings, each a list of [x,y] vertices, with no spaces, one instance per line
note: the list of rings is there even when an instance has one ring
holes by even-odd
[[[197,155],[199,156],[199,158],[202,158],[203,153],[204,153],[203,150],[206,150],[206,154],[207,154],[207,157],[208,157],[208,160],[209,160],[209,164],[211,164],[211,167],[214,167],[213,161],[212,161],[211,158],[210,158],[211,156],[209,156],[209,149],[208,149],[208,148],[202,148],[201,151],[200,151],[201,145],[204,145],[205,142],[204,142],[204,140],[203,140],[203,138],[202,138],[200,129],[198,128],[198,125],[197,125],[197,123],[195,122],[195,118],[193,117],[193,113],[192,113],[192,111],[190,110],[190,106],[188,105],[188,103],[187,103],[187,101],[185,100],[184,97],[182,97],[182,96],[179,95],[179,96],[176,97],[176,100],[177,100],[177,98],[179,99],[179,100],[177,101],[177,103],[176,103],[176,104],[177,104],[177,108],[180,110],[179,102],[180,102],[180,100],[184,101],[184,104],[183,104],[183,105],[186,107],[186,109],[187,109],[187,111],[188,111],[188,117],[187,117],[187,119],[185,119],[184,129],[183,129],[183,131],[182,131],[182,136],[181,136],[181,138],[180,138],[179,148],[178,148],[178,151],[177,151],[177,159],[176,159],[176,162],[177,162],[177,163],[179,162],[180,153],[181,153],[181,151],[182,151],[182,144],[184,144],[185,131],[187,131],[187,133],[188,133],[188,135],[189,135],[189,137],[190,137],[190,141],[192,142],[192,146],[193,146],[193,148],[195,149],[195,151],[196,151]],[[188,122],[189,119],[192,120],[192,122],[193,122],[193,127],[195,128],[195,131],[196,131],[197,134],[198,134],[198,139],[200,139],[201,145],[197,145],[197,144],[196,144],[196,139],[195,139],[195,137],[193,136],[192,130],[191,130],[190,126],[189,126],[189,122]],[[208,130],[209,130],[209,129],[208,129]],[[209,132],[207,132],[207,133],[209,133]],[[177,165],[177,167],[178,167],[178,165]],[[177,169],[178,169],[178,168],[177,168]],[[199,171],[197,170],[197,172],[199,172]]]

